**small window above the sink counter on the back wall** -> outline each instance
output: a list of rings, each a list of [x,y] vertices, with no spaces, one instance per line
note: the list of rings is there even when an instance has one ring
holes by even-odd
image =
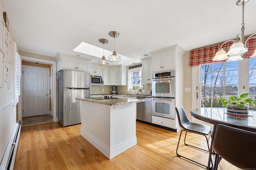
[[[142,68],[128,70],[128,91],[145,91],[144,84],[142,84]]]

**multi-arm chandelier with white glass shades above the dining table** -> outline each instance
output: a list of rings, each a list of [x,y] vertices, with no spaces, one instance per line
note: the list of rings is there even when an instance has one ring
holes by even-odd
[[[249,39],[251,38],[256,38],[256,33],[250,35],[245,43],[244,43],[244,4],[246,2],[248,2],[249,0],[238,0],[236,2],[236,5],[242,5],[242,28],[241,28],[241,35],[238,34],[236,37],[236,40],[228,40],[224,43],[222,43],[222,45],[224,45],[227,42],[230,41],[234,41],[234,43],[230,46],[230,49],[228,51],[228,53],[226,53],[226,51],[224,51],[224,49],[222,48],[222,45],[220,46],[220,49],[218,49],[218,52],[215,54],[214,58],[212,59],[213,61],[222,61],[222,60],[226,60],[227,61],[240,61],[243,60],[242,56],[244,55],[244,53],[246,53],[248,51],[248,47],[246,47],[246,44],[248,42]],[[228,56],[229,55],[229,56]],[[256,57],[256,49],[253,53],[253,55],[251,56],[251,58]]]

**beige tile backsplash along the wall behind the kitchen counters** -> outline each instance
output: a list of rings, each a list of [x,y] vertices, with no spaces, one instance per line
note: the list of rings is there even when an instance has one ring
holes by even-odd
[[[135,94],[135,92],[128,92],[128,86],[115,86],[116,94]],[[139,95],[150,95],[151,83],[145,84],[145,92],[138,92]],[[112,94],[113,86],[109,85],[91,85],[91,95],[96,94]]]

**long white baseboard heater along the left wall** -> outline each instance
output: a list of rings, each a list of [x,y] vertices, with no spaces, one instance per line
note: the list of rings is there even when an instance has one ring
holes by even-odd
[[[17,121],[12,131],[12,136],[10,138],[10,141],[4,152],[4,157],[0,164],[0,170],[13,170],[16,151],[17,151],[19,138],[20,138],[20,129],[21,129],[21,121]]]

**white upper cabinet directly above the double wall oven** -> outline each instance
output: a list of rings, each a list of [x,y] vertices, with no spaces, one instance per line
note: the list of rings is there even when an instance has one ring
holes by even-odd
[[[152,54],[153,72],[175,69],[175,49],[154,51]]]

